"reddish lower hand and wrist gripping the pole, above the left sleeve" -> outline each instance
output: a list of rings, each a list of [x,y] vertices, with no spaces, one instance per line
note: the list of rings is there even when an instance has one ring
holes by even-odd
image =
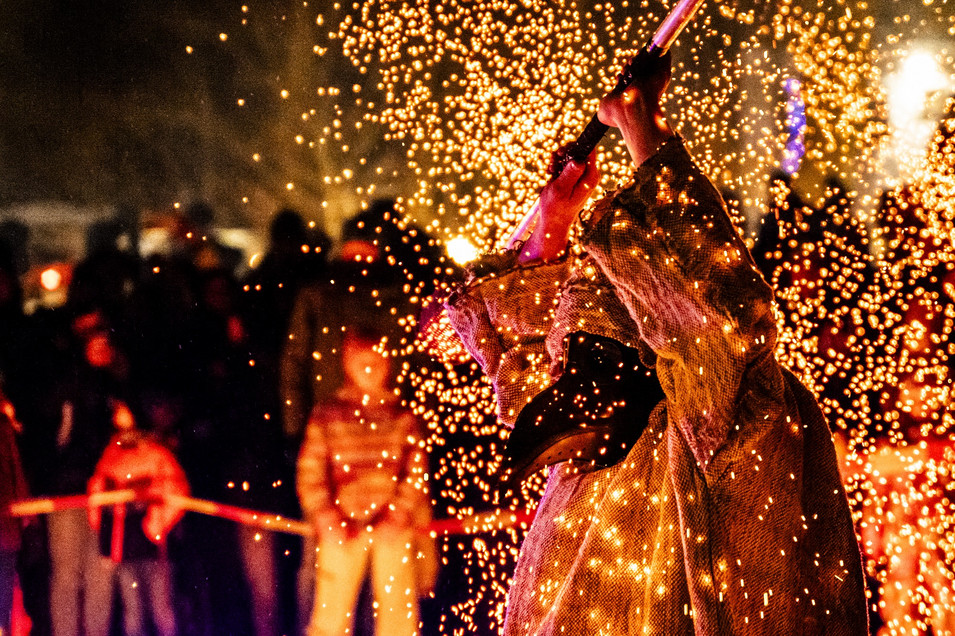
[[[521,250],[520,261],[551,260],[567,245],[570,227],[593,193],[600,172],[591,155],[586,162],[567,162],[564,169],[544,186],[540,195],[540,218]]]

